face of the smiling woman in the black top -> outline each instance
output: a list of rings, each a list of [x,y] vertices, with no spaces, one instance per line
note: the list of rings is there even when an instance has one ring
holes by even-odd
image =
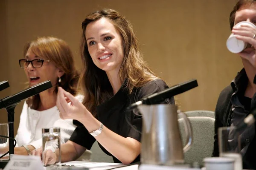
[[[113,24],[107,18],[89,23],[85,37],[93,63],[107,75],[118,73],[124,55],[122,37]]]

